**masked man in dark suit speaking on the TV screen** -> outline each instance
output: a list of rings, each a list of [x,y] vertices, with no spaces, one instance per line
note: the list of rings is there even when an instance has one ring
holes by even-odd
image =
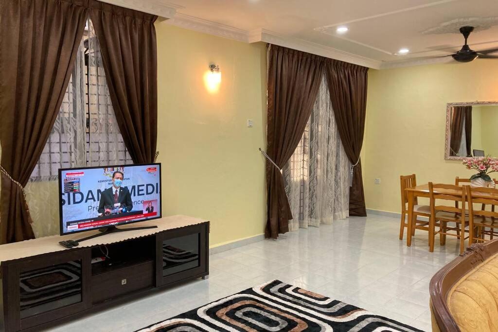
[[[124,175],[120,171],[113,173],[113,185],[102,192],[99,203],[99,213],[104,216],[113,213],[130,212],[133,209],[131,195],[126,187],[122,187]]]

